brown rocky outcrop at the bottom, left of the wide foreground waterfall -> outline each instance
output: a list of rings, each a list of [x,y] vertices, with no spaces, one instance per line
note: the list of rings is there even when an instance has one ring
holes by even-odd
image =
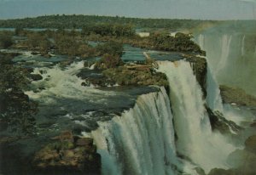
[[[101,155],[92,138],[79,138],[64,132],[54,143],[39,150],[32,160],[39,174],[101,174]]]

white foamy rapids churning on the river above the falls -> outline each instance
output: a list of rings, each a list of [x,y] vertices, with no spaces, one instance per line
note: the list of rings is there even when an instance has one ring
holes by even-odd
[[[26,92],[32,99],[45,101],[54,101],[54,98],[64,99],[87,99],[94,103],[104,102],[104,97],[115,95],[111,91],[101,91],[93,87],[81,86],[84,82],[76,76],[80,69],[84,68],[84,61],[73,63],[67,68],[61,68],[59,65],[53,67],[36,68],[33,73],[42,74],[43,80],[32,82],[37,88],[45,88],[44,90],[34,93]]]

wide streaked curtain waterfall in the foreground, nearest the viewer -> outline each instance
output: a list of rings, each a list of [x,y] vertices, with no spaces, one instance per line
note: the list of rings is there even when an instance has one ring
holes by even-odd
[[[103,174],[170,174],[180,168],[166,90],[138,97],[134,108],[91,133],[102,155]],[[185,167],[183,167],[185,169]]]

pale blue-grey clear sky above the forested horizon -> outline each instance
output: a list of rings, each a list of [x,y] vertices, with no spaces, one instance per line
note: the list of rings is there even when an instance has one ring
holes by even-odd
[[[0,0],[0,19],[47,14],[256,20],[256,0]]]

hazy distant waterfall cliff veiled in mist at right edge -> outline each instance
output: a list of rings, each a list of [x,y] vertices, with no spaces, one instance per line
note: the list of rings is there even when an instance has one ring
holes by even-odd
[[[218,84],[256,95],[256,35],[209,29],[195,36],[207,52],[207,63]]]

